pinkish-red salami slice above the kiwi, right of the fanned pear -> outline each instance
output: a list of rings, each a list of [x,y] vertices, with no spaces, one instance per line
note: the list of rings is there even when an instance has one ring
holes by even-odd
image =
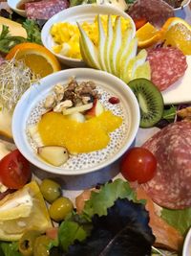
[[[147,59],[151,66],[151,81],[160,91],[178,81],[187,68],[186,57],[173,47],[150,49]]]

